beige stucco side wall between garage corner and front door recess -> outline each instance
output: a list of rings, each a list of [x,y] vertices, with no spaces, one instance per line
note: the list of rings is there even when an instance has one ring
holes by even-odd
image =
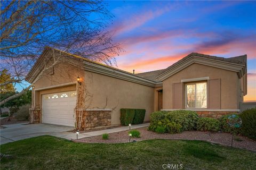
[[[145,121],[154,111],[154,88],[85,71],[87,108],[111,108],[111,124],[119,124],[121,108],[146,109]]]

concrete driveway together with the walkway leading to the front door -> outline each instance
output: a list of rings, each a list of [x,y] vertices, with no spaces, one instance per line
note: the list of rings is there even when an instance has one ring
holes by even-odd
[[[132,125],[131,129],[142,128],[148,126],[149,123]],[[1,129],[1,140],[0,145],[4,143],[9,143],[17,140],[38,137],[41,135],[52,135],[54,137],[64,138],[64,139],[76,139],[76,133],[67,132],[74,128],[68,126],[52,125],[52,124],[9,124],[4,125],[6,128]],[[114,133],[129,130],[129,126],[124,126],[121,128],[106,129],[94,132],[81,133],[78,135],[78,139],[93,137],[97,135],[102,135],[103,133]]]

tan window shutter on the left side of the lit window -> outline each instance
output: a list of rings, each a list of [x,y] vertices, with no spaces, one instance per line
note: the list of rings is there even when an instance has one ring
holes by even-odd
[[[182,109],[182,83],[173,84],[173,108]]]

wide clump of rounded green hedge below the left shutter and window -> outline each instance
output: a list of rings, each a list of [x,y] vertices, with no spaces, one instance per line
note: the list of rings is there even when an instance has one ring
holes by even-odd
[[[197,120],[198,115],[194,111],[157,111],[150,115],[150,125],[148,129],[156,131],[158,126],[177,126],[177,129],[179,130],[166,130],[166,132],[172,133],[174,131],[174,133],[179,133],[182,131],[195,130]],[[175,123],[175,125],[173,125],[173,123]],[[179,126],[181,128],[179,128]]]

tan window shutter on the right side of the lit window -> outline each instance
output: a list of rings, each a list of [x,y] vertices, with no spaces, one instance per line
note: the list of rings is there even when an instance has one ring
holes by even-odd
[[[209,109],[220,109],[220,79],[209,80]]]

